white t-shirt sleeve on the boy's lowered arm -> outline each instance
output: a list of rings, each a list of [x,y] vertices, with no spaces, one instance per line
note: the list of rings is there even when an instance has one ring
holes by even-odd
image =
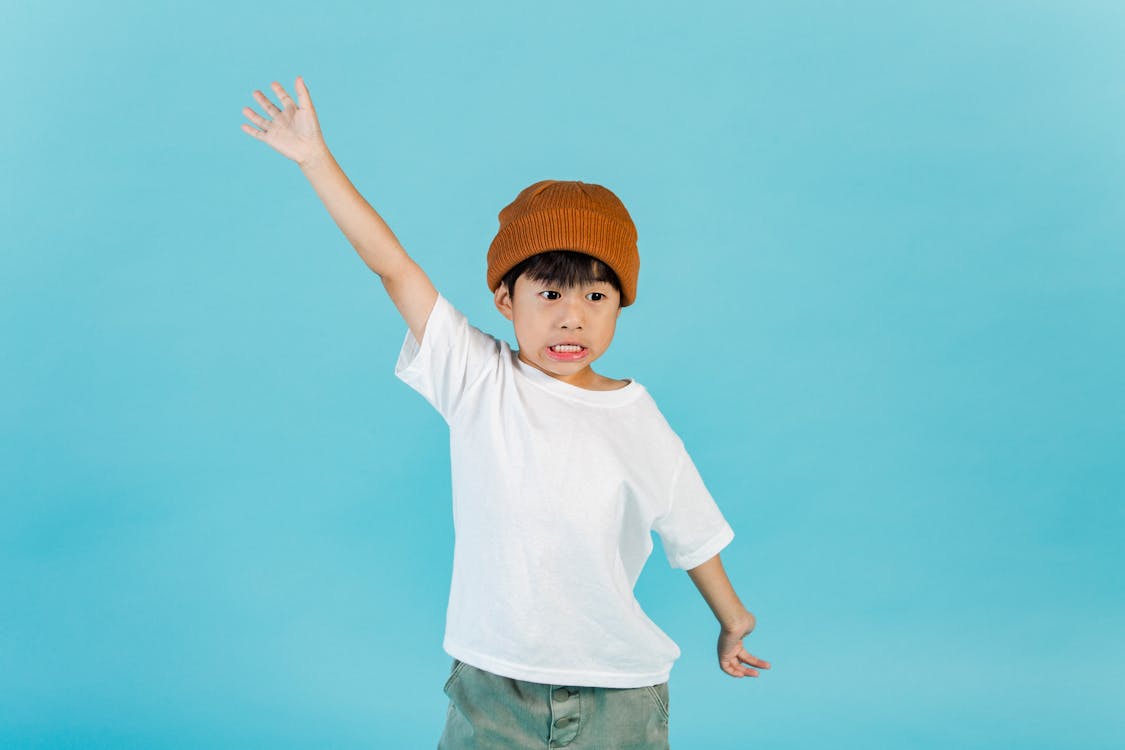
[[[684,570],[706,562],[735,539],[686,451],[681,452],[673,476],[668,512],[656,518],[652,528],[660,535],[668,563]]]

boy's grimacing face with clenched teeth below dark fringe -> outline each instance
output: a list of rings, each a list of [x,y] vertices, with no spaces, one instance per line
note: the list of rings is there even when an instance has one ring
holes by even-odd
[[[560,287],[523,274],[511,295],[505,284],[500,286],[496,309],[515,328],[522,362],[579,388],[601,379],[590,365],[610,347],[616,329],[621,295],[613,284],[593,281]],[[554,349],[570,343],[583,349]]]

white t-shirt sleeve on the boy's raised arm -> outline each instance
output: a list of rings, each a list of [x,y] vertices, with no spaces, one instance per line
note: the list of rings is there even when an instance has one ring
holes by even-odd
[[[466,392],[495,368],[498,356],[500,342],[469,325],[465,315],[439,293],[422,341],[406,329],[395,374],[449,423]]]

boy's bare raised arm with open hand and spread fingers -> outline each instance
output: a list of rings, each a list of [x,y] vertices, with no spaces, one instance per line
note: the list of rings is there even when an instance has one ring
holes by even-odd
[[[422,341],[425,322],[438,299],[430,277],[406,253],[387,223],[363,199],[328,151],[305,80],[297,76],[297,102],[277,81],[272,89],[281,108],[255,90],[254,99],[272,119],[260,117],[245,107],[243,114],[260,129],[243,123],[243,132],[300,166],[336,226],[367,266],[378,274],[414,337]]]

